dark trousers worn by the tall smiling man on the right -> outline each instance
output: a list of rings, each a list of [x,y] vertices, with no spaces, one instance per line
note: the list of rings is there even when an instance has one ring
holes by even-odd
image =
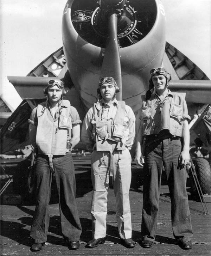
[[[158,221],[161,174],[164,165],[171,198],[171,219],[175,239],[191,241],[193,236],[188,197],[186,168],[178,166],[181,152],[179,139],[164,139],[146,144],[143,181],[141,230],[143,240],[155,240]]]

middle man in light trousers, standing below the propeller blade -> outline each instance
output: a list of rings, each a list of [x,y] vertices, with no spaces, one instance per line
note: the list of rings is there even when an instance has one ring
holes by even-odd
[[[129,190],[131,181],[130,148],[135,136],[135,116],[124,101],[116,99],[119,86],[113,77],[102,77],[94,107],[84,118],[81,139],[91,154],[93,196],[91,203],[92,237],[87,247],[106,240],[107,194],[109,183],[116,196],[116,219],[121,242],[127,248],[132,240]]]

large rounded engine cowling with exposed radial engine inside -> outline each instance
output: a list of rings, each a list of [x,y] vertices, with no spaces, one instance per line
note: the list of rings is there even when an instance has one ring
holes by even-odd
[[[165,14],[159,0],[69,0],[62,22],[66,62],[83,103],[90,108],[109,39],[110,13],[118,18],[122,99],[136,111],[148,87],[149,70],[161,65],[164,54]],[[112,65],[115,60],[109,61]]]

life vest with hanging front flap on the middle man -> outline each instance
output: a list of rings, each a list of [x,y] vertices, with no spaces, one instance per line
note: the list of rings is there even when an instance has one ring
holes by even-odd
[[[100,120],[100,111],[94,105],[94,117],[96,122],[96,150],[110,151],[125,150],[122,138],[124,137],[124,113],[125,102],[118,101],[118,107],[114,119]]]

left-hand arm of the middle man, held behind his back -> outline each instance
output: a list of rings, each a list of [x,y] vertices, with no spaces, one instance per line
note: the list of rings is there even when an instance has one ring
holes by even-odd
[[[90,108],[84,118],[82,130],[81,130],[81,141],[84,143],[87,150],[92,150],[94,146],[94,140],[92,139],[92,123],[91,120],[94,116],[93,108]]]

